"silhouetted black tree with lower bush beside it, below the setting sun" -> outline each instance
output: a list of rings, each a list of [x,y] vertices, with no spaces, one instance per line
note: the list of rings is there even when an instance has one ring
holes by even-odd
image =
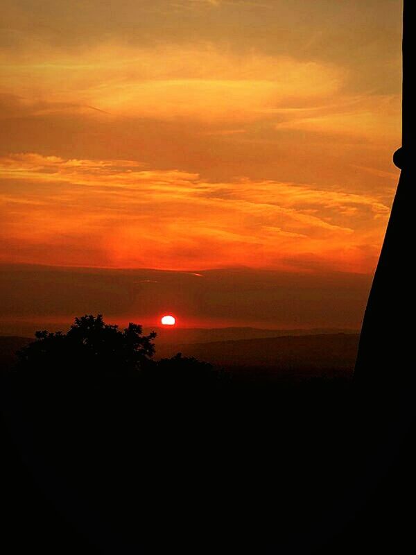
[[[125,373],[140,370],[141,382],[157,389],[206,387],[220,382],[223,373],[208,362],[194,357],[173,357],[155,361],[156,332],[143,335],[139,324],[129,323],[124,330],[106,324],[102,314],[86,314],[75,318],[67,333],[35,333],[35,341],[17,351],[18,368],[39,375],[53,372],[58,378],[64,373],[77,375],[103,371]]]

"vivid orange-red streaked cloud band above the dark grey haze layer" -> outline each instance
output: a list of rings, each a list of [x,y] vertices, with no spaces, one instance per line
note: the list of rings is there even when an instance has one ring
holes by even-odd
[[[370,271],[389,212],[370,194],[38,153],[1,157],[0,185],[9,262],[190,270],[312,256]]]

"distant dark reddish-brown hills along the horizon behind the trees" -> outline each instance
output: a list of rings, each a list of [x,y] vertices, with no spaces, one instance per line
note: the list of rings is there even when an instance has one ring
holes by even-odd
[[[148,330],[145,330],[147,332]],[[155,329],[155,331],[158,331]],[[327,330],[326,330],[327,331]],[[352,375],[358,350],[358,333],[311,334],[309,330],[259,330],[223,328],[216,330],[162,330],[155,340],[156,359],[172,357],[177,352],[211,362],[234,373],[268,375]],[[191,332],[196,332],[192,334]],[[205,341],[197,342],[198,334]],[[274,336],[224,339],[234,334],[269,334]],[[292,335],[288,335],[291,333]],[[297,334],[296,334],[297,333]],[[279,334],[279,335],[276,335]],[[220,336],[221,341],[209,341]],[[185,338],[187,341],[180,341]],[[15,352],[33,341],[21,336],[0,336],[0,365],[10,368]]]

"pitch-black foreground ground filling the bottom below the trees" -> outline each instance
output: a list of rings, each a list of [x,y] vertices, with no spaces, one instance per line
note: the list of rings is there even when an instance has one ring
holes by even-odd
[[[10,554],[404,552],[412,484],[349,379],[253,386],[181,357],[137,371],[70,352],[1,379]]]

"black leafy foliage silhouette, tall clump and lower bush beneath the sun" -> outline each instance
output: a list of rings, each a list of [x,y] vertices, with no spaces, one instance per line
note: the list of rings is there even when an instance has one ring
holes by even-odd
[[[46,391],[53,388],[78,388],[83,384],[84,395],[90,395],[87,382],[106,388],[110,382],[98,379],[113,375],[109,394],[117,386],[128,389],[121,377],[130,379],[131,391],[143,406],[163,402],[177,405],[184,399],[210,398],[214,391],[225,388],[227,375],[207,362],[182,353],[170,359],[155,361],[155,332],[143,335],[141,325],[129,323],[124,330],[107,324],[103,316],[86,314],[75,318],[67,333],[35,333],[35,341],[17,352],[19,375],[31,375],[32,383],[46,379]],[[81,379],[81,382],[80,382]],[[49,380],[49,382],[48,382]],[[124,394],[125,392],[123,392]],[[133,401],[132,401],[133,402]],[[164,408],[166,409],[166,407]]]

